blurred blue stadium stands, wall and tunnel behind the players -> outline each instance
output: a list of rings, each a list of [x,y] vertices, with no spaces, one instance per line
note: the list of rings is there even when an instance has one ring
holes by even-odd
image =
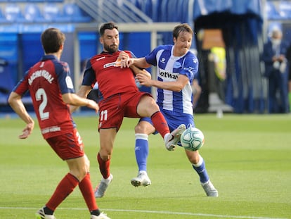
[[[42,56],[39,37],[47,27],[58,27],[66,33],[62,60],[70,64],[77,89],[84,62],[102,49],[97,31],[101,23],[117,23],[120,49],[131,50],[138,57],[157,44],[172,44],[174,25],[189,23],[195,30],[193,49],[200,59],[200,112],[215,110],[209,98],[209,51],[198,40],[200,30],[221,33],[227,61],[223,106],[234,113],[266,113],[268,87],[259,58],[262,46],[273,25],[279,25],[290,42],[290,1],[0,0],[0,6],[0,112],[11,111],[7,106],[9,92]],[[210,38],[212,46],[219,43],[217,35]],[[24,101],[30,108],[30,97],[25,96]]]

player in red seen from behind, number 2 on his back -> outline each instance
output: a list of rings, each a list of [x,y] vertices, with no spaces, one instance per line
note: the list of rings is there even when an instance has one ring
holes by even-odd
[[[11,92],[8,102],[27,124],[20,134],[26,139],[32,133],[34,120],[22,103],[22,96],[30,91],[41,134],[60,158],[67,162],[70,172],[63,177],[46,205],[36,213],[37,218],[54,219],[60,203],[79,186],[91,213],[91,219],[108,219],[96,204],[89,175],[89,160],[84,154],[84,144],[72,120],[68,104],[87,106],[98,112],[95,101],[77,96],[67,63],[60,61],[65,35],[56,28],[41,34],[44,56],[25,73]]]

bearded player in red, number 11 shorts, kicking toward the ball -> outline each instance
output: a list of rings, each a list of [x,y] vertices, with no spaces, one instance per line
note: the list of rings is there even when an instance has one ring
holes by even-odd
[[[86,65],[82,86],[78,95],[86,97],[92,85],[98,82],[99,89],[99,125],[100,150],[97,155],[99,169],[103,179],[96,188],[95,196],[102,197],[112,180],[110,158],[113,142],[124,117],[150,117],[156,130],[164,138],[168,150],[173,150],[179,130],[169,132],[169,127],[153,97],[140,92],[136,87],[134,75],[143,70],[131,66],[121,68],[119,54],[119,32],[114,23],[105,23],[100,28],[100,42],[103,52],[90,58]],[[125,51],[130,57],[131,51]],[[72,108],[74,111],[75,108]]]

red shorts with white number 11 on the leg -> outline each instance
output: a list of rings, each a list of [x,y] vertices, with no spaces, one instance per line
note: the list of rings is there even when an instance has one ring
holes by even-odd
[[[115,127],[118,131],[124,117],[141,118],[137,106],[144,95],[151,96],[146,92],[122,93],[100,101],[98,130]]]

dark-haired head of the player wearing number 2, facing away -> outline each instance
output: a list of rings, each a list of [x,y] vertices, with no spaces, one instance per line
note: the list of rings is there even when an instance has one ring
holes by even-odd
[[[56,53],[65,42],[65,34],[57,28],[48,28],[41,34],[41,44],[46,54]]]

